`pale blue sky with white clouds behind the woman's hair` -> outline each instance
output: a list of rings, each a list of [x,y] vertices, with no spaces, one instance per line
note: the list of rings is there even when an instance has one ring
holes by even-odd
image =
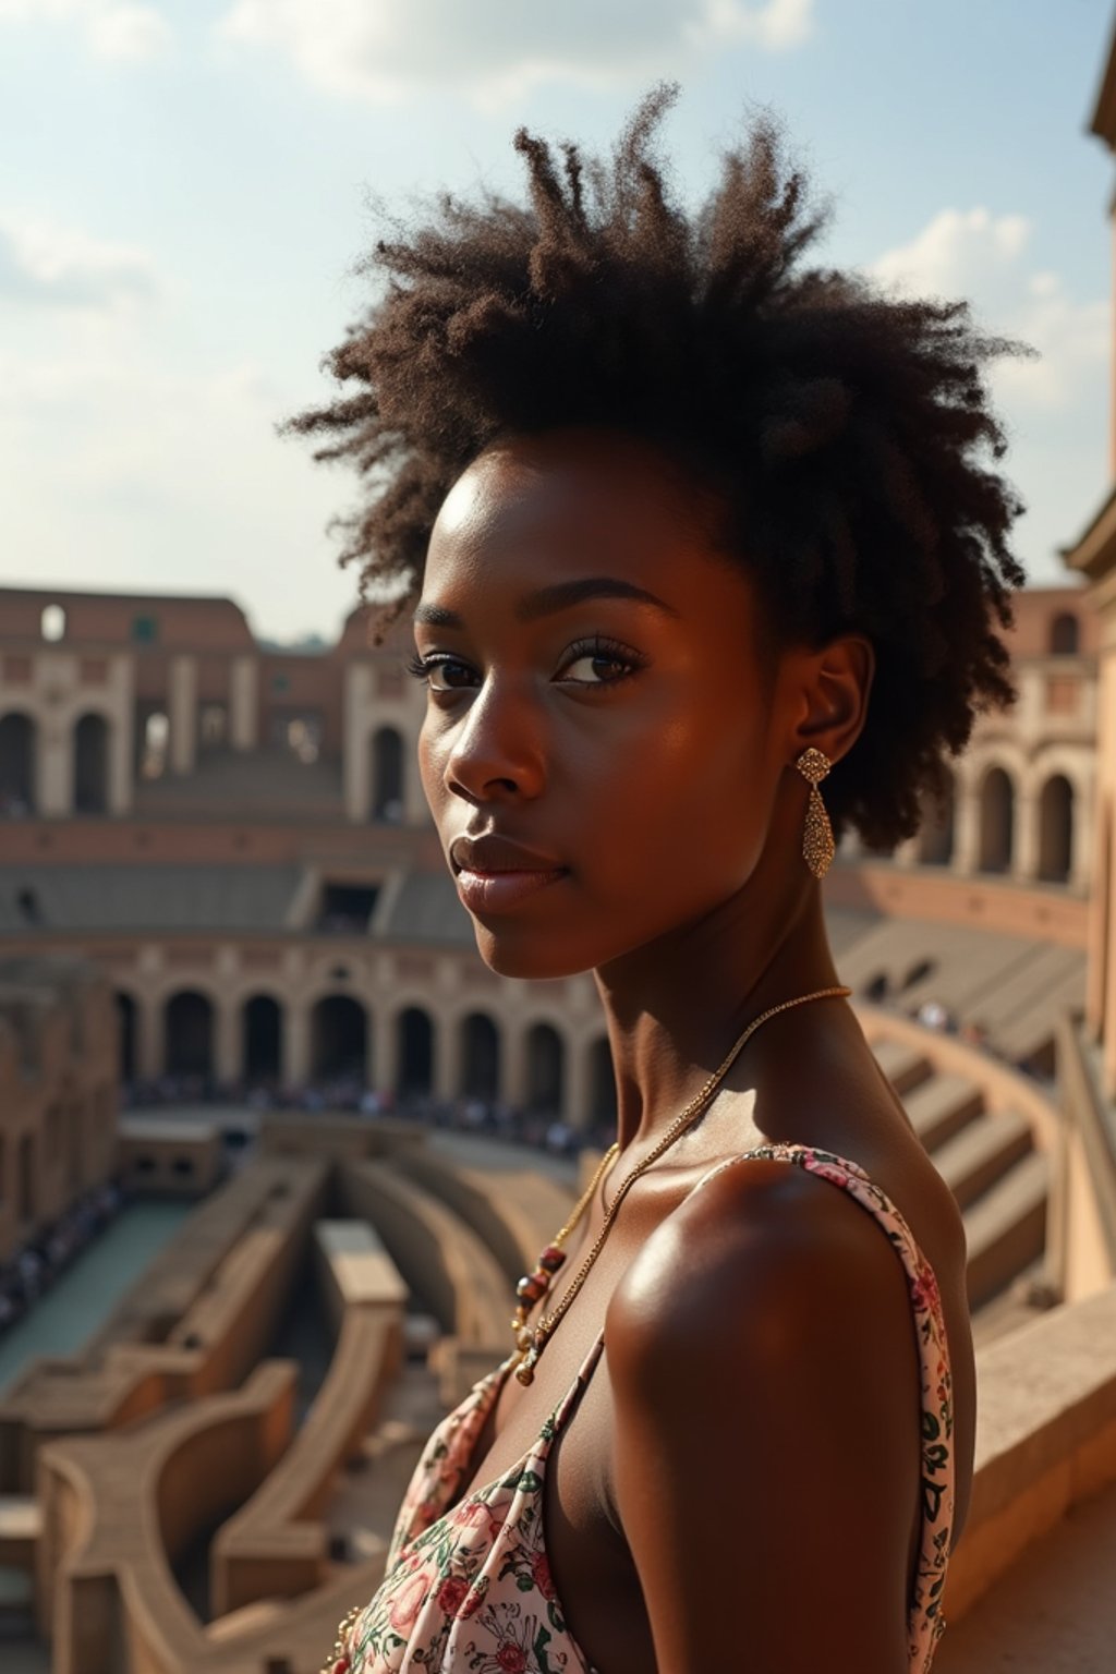
[[[517,193],[520,124],[607,149],[646,89],[696,201],[775,110],[822,259],[967,296],[1036,584],[1109,487],[1113,0],[0,0],[0,584],[228,594],[333,639],[355,501],[276,424],[371,298],[381,213]],[[378,209],[376,206],[381,206]],[[0,624],[2,631],[2,624]]]

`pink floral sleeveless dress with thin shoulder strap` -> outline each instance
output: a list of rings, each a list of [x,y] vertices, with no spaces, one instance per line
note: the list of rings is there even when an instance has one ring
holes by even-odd
[[[853,1162],[805,1145],[763,1145],[718,1163],[791,1162],[848,1192],[882,1227],[910,1291],[922,1369],[922,1537],[907,1617],[909,1674],[927,1674],[954,1515],[952,1386],[934,1272],[890,1199]],[[462,1498],[477,1438],[515,1356],[482,1378],[427,1443],[395,1525],[385,1579],[343,1630],[350,1674],[594,1674],[555,1597],[542,1535],[550,1451],[604,1348],[592,1344],[535,1443],[495,1481]]]

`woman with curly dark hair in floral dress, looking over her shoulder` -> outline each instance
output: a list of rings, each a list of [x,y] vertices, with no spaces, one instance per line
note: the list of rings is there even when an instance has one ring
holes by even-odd
[[[346,557],[415,604],[480,953],[594,971],[619,1103],[341,1625],[353,1674],[924,1674],[965,1515],[960,1219],[820,877],[830,827],[914,832],[1011,696],[1002,345],[808,270],[768,126],[688,216],[668,102],[609,166],[520,134],[527,208],[381,244],[356,393],[294,422],[375,485]]]

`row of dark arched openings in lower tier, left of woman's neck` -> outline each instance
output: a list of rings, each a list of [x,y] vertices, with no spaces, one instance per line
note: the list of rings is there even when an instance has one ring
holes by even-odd
[[[134,1081],[139,1075],[139,1008],[134,996],[117,993],[120,1019],[120,1076]],[[371,1053],[371,1016],[363,1001],[351,994],[326,994],[310,1009],[308,1081],[328,1085],[380,1081]],[[162,1061],[159,1073],[172,1078],[218,1080],[216,1030],[212,999],[197,989],[181,989],[164,1003]],[[238,1080],[251,1088],[278,1085],[284,1075],[284,1006],[273,994],[253,994],[239,1006]],[[438,1030],[453,1030],[452,1043],[458,1066],[452,1095],[495,1103],[507,1098],[505,1028],[484,1011],[472,1011],[452,1024],[438,1024],[423,1006],[405,1006],[393,1021],[395,1073],[392,1091],[398,1098],[422,1098],[435,1093]],[[569,1048],[550,1023],[534,1023],[522,1040],[524,1108],[539,1115],[562,1115],[567,1103]],[[616,1090],[607,1040],[589,1046],[589,1108],[592,1122],[607,1122],[616,1113]]]

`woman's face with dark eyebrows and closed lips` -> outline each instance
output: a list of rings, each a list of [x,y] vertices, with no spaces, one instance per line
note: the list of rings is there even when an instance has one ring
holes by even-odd
[[[495,971],[607,966],[756,870],[791,698],[703,507],[658,450],[591,430],[490,449],[442,507],[420,768]]]

